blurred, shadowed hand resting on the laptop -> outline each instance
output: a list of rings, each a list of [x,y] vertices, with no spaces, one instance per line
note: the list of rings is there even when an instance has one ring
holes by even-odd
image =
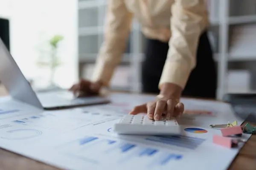
[[[79,83],[74,84],[69,91],[72,91],[77,97],[93,96],[99,94],[102,86],[101,82],[91,82],[86,79],[81,79]]]

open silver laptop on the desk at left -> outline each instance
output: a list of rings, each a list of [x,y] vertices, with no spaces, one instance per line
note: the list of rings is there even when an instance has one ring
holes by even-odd
[[[35,93],[1,39],[0,81],[13,99],[45,110],[106,104],[110,102],[104,96],[75,98],[71,92],[66,90]]]

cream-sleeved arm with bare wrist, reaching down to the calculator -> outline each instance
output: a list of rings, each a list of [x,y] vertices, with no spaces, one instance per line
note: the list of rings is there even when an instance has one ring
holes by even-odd
[[[207,26],[204,0],[175,0],[169,51],[160,79],[163,96],[179,98],[196,65],[199,37]]]

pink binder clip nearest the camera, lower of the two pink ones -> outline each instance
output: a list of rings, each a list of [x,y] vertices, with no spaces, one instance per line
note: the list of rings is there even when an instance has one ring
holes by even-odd
[[[231,139],[223,136],[214,135],[212,138],[212,142],[214,144],[218,144],[223,147],[233,148],[233,147],[237,147],[239,142],[244,142],[244,141],[241,139]]]

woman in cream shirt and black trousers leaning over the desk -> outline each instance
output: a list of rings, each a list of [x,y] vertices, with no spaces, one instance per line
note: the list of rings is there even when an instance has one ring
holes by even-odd
[[[205,0],[109,0],[105,41],[93,80],[81,80],[70,90],[97,94],[108,86],[134,17],[148,39],[143,92],[159,95],[155,101],[136,106],[131,114],[146,112],[150,119],[159,120],[164,113],[170,119],[183,113],[181,94],[214,98],[216,73]]]

